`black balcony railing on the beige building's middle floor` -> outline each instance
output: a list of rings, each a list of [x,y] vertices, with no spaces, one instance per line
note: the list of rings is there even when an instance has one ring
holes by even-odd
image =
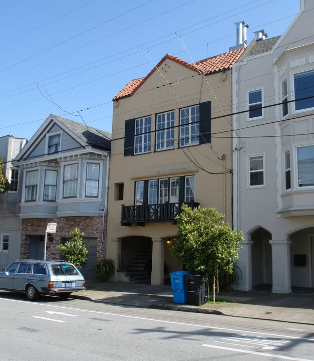
[[[199,203],[184,202],[190,208],[196,208]],[[122,205],[121,225],[131,226],[136,223],[144,226],[151,222],[172,222],[175,223],[175,217],[180,213],[182,203],[163,203],[154,205]]]

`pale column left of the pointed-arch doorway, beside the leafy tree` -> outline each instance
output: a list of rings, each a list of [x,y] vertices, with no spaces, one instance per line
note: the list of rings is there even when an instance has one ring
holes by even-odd
[[[239,259],[236,263],[241,271],[238,272],[239,285],[234,286],[237,290],[249,291],[252,289],[252,243],[251,240],[241,242],[242,248],[239,250]]]

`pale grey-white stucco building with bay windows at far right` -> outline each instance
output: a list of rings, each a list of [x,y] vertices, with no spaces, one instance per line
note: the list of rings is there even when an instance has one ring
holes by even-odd
[[[294,0],[297,1],[297,0]],[[233,66],[233,222],[239,289],[314,287],[314,2]]]

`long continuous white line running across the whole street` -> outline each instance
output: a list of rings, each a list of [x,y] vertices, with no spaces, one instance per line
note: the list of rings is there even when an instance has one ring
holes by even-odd
[[[247,332],[247,333],[251,333],[251,334],[262,334],[262,335],[267,335],[267,336],[284,337],[284,338],[306,340],[306,341],[312,341],[312,342],[314,341],[314,338],[307,338],[307,337],[288,336],[288,335],[282,335],[282,334],[276,334],[276,333],[266,333],[266,332],[257,332],[257,331],[249,331],[249,330],[239,330],[239,329],[226,328],[226,327],[206,326],[206,325],[200,325],[200,324],[195,324],[195,323],[166,321],[166,320],[159,320],[159,319],[155,319],[155,318],[129,316],[129,315],[123,315],[123,314],[119,314],[119,313],[112,313],[112,312],[84,310],[84,309],[80,309],[80,308],[48,305],[47,303],[34,303],[32,301],[22,301],[22,300],[8,299],[8,298],[2,298],[2,297],[0,297],[0,300],[10,301],[10,302],[27,303],[27,304],[32,305],[32,306],[54,307],[54,308],[61,308],[61,309],[71,310],[71,311],[79,311],[79,312],[85,312],[85,313],[96,313],[96,314],[109,315],[109,316],[115,316],[115,317],[125,317],[125,318],[132,318],[132,319],[141,319],[141,320],[146,320],[146,321],[178,324],[178,325],[183,325],[183,326],[193,326],[193,327],[207,328],[207,329],[212,329],[212,330],[224,330],[224,331],[232,331],[232,332],[238,332],[238,333]],[[314,360],[311,360],[311,361],[314,361]]]

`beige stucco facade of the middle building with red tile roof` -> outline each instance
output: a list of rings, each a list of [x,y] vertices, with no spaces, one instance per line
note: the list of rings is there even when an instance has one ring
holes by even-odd
[[[106,257],[115,260],[118,270],[123,268],[119,255],[132,259],[144,244],[152,247],[151,268],[148,267],[152,284],[163,284],[165,273],[182,269],[169,251],[177,233],[173,222],[160,221],[157,214],[150,222],[121,224],[122,205],[136,203],[136,182],[157,180],[157,203],[161,203],[160,179],[166,179],[170,187],[174,178],[192,176],[196,205],[215,208],[231,223],[231,117],[224,116],[231,110],[230,72],[227,69],[204,76],[165,57],[158,70],[151,72],[133,95],[114,101]],[[206,121],[211,123],[211,141],[179,146],[180,109],[207,102],[210,102],[211,115]],[[157,150],[157,115],[170,111],[174,112],[173,147]],[[149,116],[150,150],[125,156],[126,120]],[[166,193],[171,193],[170,188]],[[170,198],[168,202],[171,203]],[[124,273],[116,272],[112,280],[127,278]]]

